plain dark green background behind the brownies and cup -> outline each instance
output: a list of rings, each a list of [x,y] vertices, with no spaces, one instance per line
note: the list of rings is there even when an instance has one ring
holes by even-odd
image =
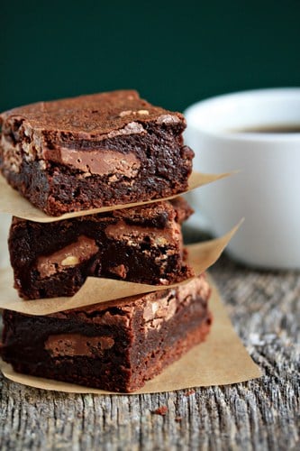
[[[300,0],[1,6],[0,109],[123,87],[170,109],[300,86]]]

